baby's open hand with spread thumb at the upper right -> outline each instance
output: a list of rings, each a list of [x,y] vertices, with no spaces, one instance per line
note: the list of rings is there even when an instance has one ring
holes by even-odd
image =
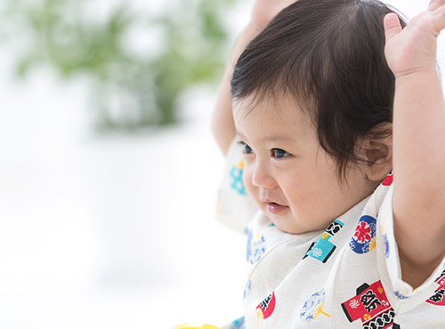
[[[445,28],[445,0],[432,0],[402,30],[396,14],[384,17],[384,54],[396,77],[435,69],[437,36]]]

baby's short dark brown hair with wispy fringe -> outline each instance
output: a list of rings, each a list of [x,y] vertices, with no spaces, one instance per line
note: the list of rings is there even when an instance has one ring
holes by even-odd
[[[360,140],[392,135],[391,125],[384,124],[392,122],[395,88],[384,58],[383,20],[389,12],[394,11],[376,0],[291,4],[239,57],[232,99],[251,98],[254,110],[256,101],[292,96],[311,114],[321,147],[345,178],[350,164],[365,161],[358,154]]]

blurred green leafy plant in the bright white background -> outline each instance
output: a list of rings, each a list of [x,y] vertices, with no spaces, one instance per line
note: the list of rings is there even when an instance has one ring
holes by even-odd
[[[25,40],[18,76],[41,66],[66,79],[88,76],[98,127],[134,129],[177,122],[182,92],[222,75],[230,33],[222,17],[237,2],[180,0],[153,14],[128,2],[104,13],[91,0],[7,0],[2,20]],[[156,49],[132,51],[138,27],[139,36],[158,36]]]

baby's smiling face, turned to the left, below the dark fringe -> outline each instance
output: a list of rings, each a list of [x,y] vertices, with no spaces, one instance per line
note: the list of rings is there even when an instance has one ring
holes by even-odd
[[[243,180],[249,194],[279,229],[304,233],[368,197],[376,185],[358,168],[337,179],[336,162],[321,148],[309,116],[290,98],[236,101],[233,116],[244,145]]]

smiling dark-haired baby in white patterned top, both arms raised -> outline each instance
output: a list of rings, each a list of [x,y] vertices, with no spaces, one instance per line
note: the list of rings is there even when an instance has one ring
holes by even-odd
[[[214,115],[226,185],[261,210],[237,325],[445,328],[445,0],[405,25],[376,0],[300,0],[241,36]]]

